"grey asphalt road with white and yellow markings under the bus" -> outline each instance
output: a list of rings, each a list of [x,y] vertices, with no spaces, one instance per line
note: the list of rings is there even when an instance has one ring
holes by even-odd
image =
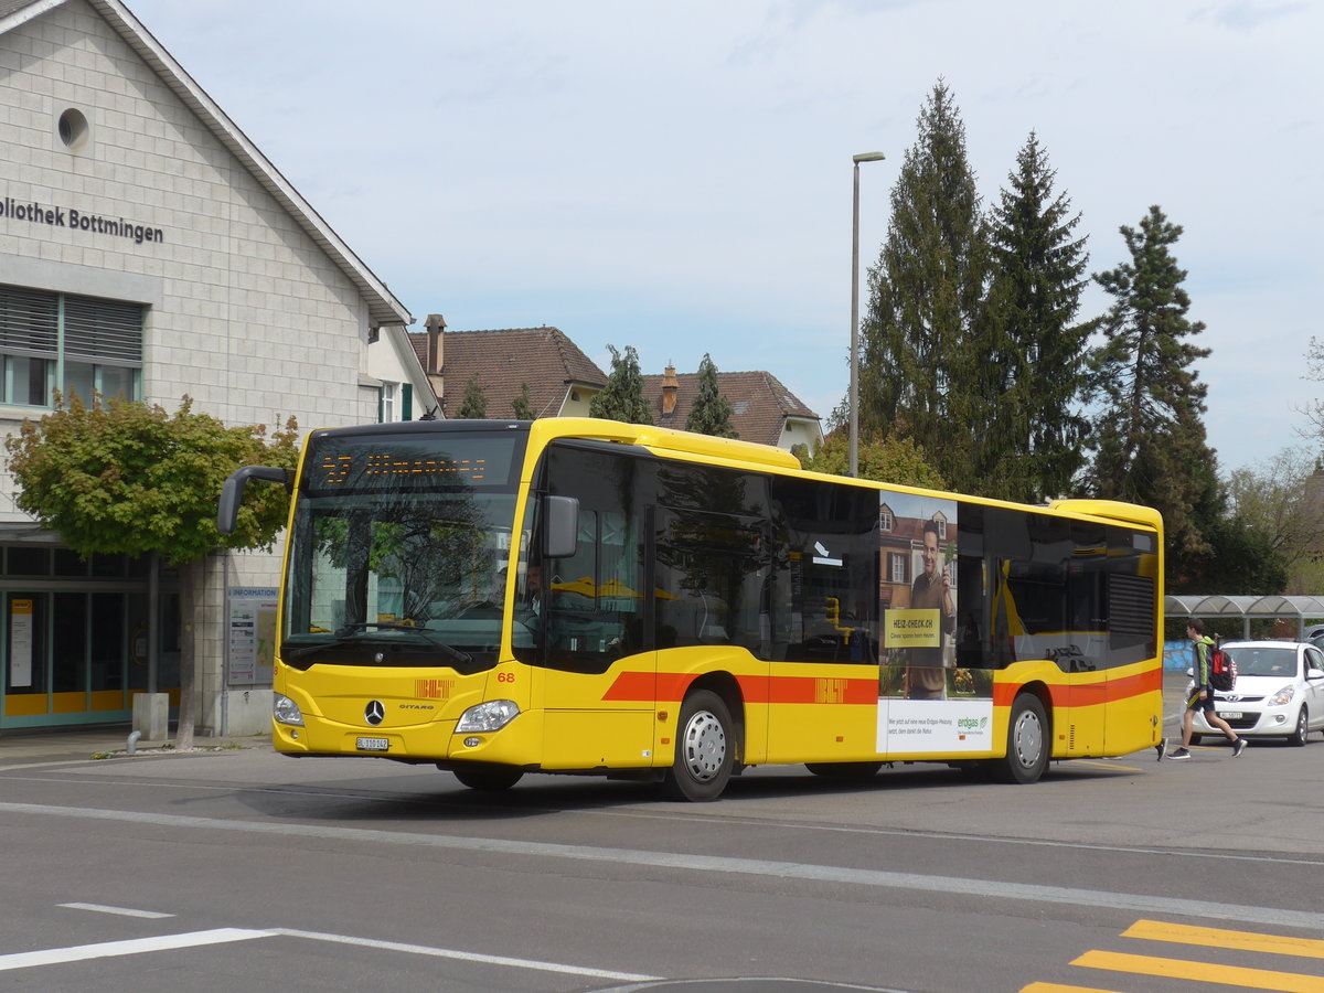
[[[1316,735],[686,805],[266,748],[0,761],[0,989],[1324,990],[1321,767]]]

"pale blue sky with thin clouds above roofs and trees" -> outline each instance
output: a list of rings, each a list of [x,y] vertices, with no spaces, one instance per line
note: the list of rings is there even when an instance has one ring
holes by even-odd
[[[127,0],[413,314],[604,371],[767,369],[826,418],[941,78],[985,205],[1034,131],[1090,271],[1158,205],[1223,471],[1311,444],[1317,0]],[[1082,319],[1111,302],[1091,287]],[[1313,442],[1317,446],[1317,440]]]

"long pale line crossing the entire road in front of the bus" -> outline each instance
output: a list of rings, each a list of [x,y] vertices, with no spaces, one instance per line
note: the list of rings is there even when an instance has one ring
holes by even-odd
[[[1214,900],[1188,900],[1158,894],[1127,894],[1107,890],[1080,890],[1064,886],[1035,886],[997,879],[967,879],[961,876],[920,875],[919,873],[888,873],[876,869],[850,869],[847,866],[820,866],[804,862],[773,862],[769,859],[727,858],[696,855],[683,851],[642,851],[637,849],[593,847],[589,845],[553,845],[549,842],[506,841],[503,838],[466,838],[420,831],[387,831],[368,828],[339,828],[315,824],[279,824],[274,821],[230,821],[180,814],[143,813],[138,810],[102,810],[95,808],[52,806],[48,804],[0,802],[0,812],[70,817],[90,821],[119,821],[151,828],[181,828],[189,830],[238,831],[267,834],[299,839],[326,838],[371,845],[401,845],[414,849],[445,849],[450,851],[483,851],[511,859],[575,859],[581,862],[649,866],[679,871],[707,873],[714,876],[743,875],[771,879],[804,879],[835,886],[863,886],[915,892],[936,892],[949,896],[974,896],[996,900],[1025,900],[1029,903],[1066,904],[1090,910],[1143,911],[1153,914],[1180,914],[1186,918],[1210,920],[1237,920],[1276,927],[1324,928],[1324,914],[1316,911],[1286,910],[1280,907],[1253,907]]]

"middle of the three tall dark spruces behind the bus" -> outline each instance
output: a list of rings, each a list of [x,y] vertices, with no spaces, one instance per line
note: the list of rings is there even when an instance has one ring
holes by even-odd
[[[993,376],[989,496],[1039,503],[1066,495],[1084,465],[1082,412],[1087,342],[1096,322],[1075,323],[1088,256],[1072,238],[1080,214],[1031,131],[993,209],[994,261],[988,356]]]

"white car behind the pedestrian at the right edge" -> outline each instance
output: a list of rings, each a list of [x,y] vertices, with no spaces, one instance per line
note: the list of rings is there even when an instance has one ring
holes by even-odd
[[[1296,641],[1227,641],[1222,649],[1237,663],[1237,685],[1214,691],[1214,710],[1233,731],[1294,745],[1324,731],[1324,650]],[[1196,711],[1193,732],[1192,744],[1202,733],[1222,737],[1202,711]]]

